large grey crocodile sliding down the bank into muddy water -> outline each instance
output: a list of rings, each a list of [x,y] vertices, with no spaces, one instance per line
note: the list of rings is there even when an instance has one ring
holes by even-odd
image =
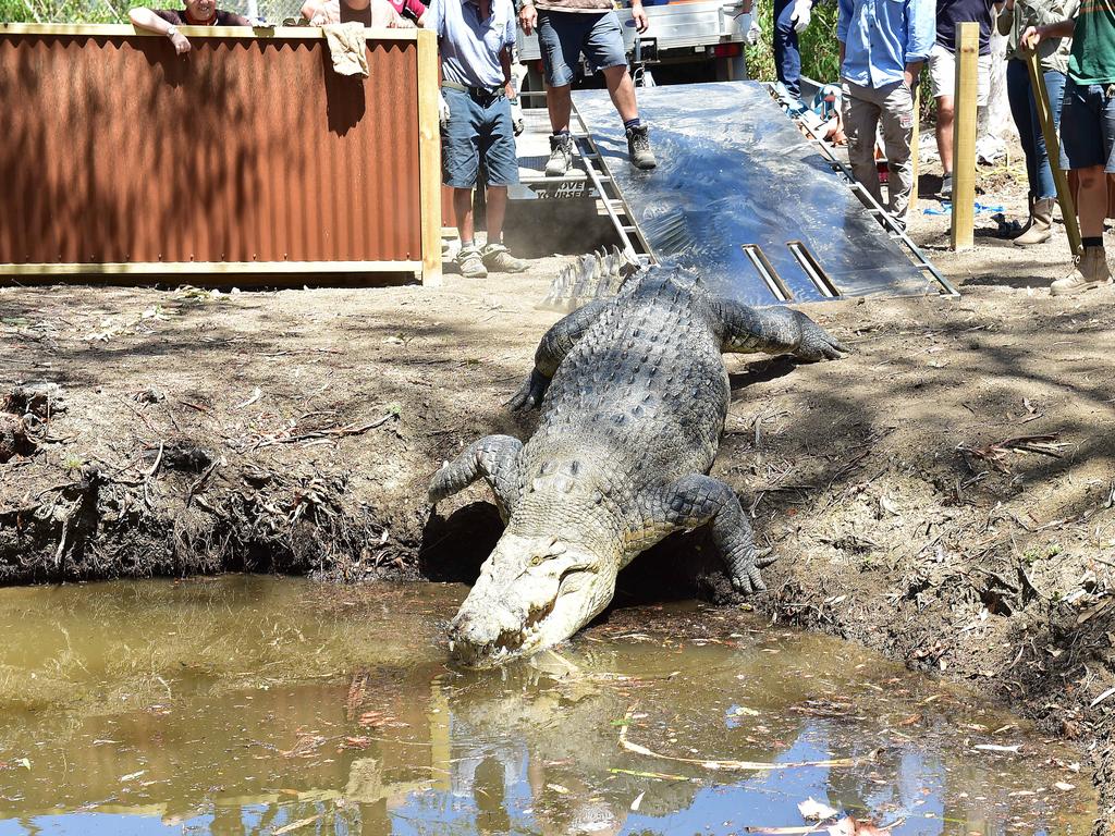
[[[765,589],[739,499],[708,476],[728,412],[721,352],[831,360],[804,313],[750,308],[680,269],[651,268],[542,338],[512,409],[541,406],[526,444],[487,436],[444,466],[430,502],[483,478],[506,529],[449,626],[450,654],[501,664],[561,642],[612,599],[617,573],[671,532],[711,525],[733,586]]]

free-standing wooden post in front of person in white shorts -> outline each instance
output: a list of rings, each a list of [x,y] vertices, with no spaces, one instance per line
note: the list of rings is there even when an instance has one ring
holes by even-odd
[[[952,227],[949,246],[975,244],[976,95],[979,84],[979,23],[957,26],[957,85],[952,123]]]

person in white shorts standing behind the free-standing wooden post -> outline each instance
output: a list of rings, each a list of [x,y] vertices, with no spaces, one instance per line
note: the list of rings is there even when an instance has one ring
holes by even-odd
[[[991,23],[1001,0],[937,0],[937,42],[929,52],[929,80],[937,99],[937,149],[944,179],[941,197],[952,197],[952,123],[957,89],[957,27],[979,23],[976,107],[987,107],[991,93]]]

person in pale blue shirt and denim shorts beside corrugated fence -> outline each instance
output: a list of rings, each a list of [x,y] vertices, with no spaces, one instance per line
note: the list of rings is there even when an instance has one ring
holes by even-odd
[[[426,28],[437,32],[442,51],[442,167],[453,188],[453,212],[460,234],[460,273],[482,278],[518,273],[526,262],[503,245],[507,186],[518,183],[518,156],[511,117],[511,50],[515,8],[511,0],[434,0]],[[474,241],[473,187],[481,162],[487,177],[487,242]]]

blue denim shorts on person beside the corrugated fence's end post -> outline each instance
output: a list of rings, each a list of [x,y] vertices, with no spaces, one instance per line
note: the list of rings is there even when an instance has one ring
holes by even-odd
[[[511,123],[511,101],[500,94],[477,100],[464,90],[442,88],[449,106],[449,123],[442,129],[442,182],[453,188],[477,185],[481,162],[484,183],[518,183],[518,157]]]

